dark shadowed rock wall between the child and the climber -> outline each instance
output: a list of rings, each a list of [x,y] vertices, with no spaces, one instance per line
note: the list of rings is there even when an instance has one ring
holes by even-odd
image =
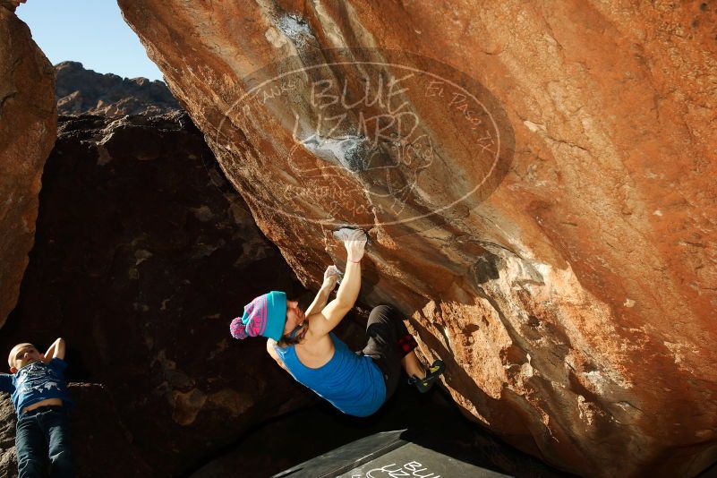
[[[303,292],[186,114],[61,116],[0,350],[64,337],[68,378],[102,383],[114,401],[129,437],[118,449],[141,457],[151,470],[142,476],[176,476],[315,400],[264,341],[229,335],[270,288]],[[76,402],[87,421],[97,404]],[[106,421],[96,415],[94,433]],[[81,469],[105,459],[80,458]]]

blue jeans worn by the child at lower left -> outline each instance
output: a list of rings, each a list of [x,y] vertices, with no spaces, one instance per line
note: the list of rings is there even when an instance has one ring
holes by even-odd
[[[18,418],[15,433],[18,478],[73,476],[66,407],[40,406]]]

